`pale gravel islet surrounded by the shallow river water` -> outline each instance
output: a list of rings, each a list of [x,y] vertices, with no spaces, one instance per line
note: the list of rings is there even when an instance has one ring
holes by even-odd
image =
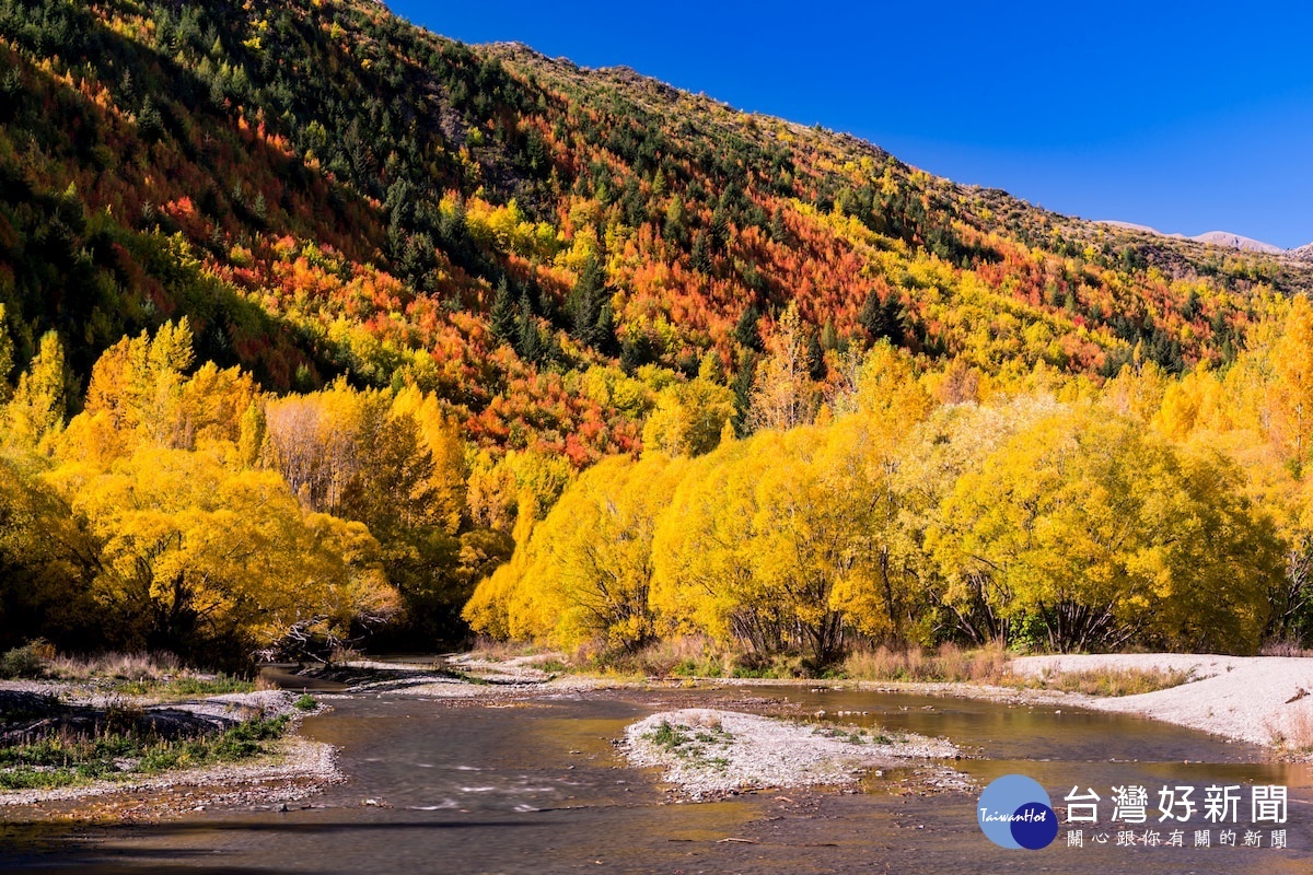
[[[692,799],[764,787],[844,786],[871,769],[958,756],[944,739],[712,708],[654,714],[630,724],[621,746],[632,763],[662,769],[664,781]],[[956,775],[943,771],[941,781]]]

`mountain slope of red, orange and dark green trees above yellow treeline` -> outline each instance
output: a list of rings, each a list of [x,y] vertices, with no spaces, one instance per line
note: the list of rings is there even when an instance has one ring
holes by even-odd
[[[584,464],[639,445],[617,367],[750,386],[789,302],[821,383],[878,336],[1098,376],[1226,361],[1313,286],[364,0],[7,0],[0,55],[0,302],[16,365],[54,328],[70,382],[186,314],[267,388],[415,382],[481,443]]]

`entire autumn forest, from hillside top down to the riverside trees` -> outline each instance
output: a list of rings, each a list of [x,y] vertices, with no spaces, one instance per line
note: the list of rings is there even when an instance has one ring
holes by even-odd
[[[1313,644],[1313,265],[365,0],[0,0],[0,647]]]

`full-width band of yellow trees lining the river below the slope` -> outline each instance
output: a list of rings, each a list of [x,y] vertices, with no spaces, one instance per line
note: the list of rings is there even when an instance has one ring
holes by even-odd
[[[747,437],[714,357],[587,371],[646,447],[576,476],[481,450],[412,383],[267,394],[198,365],[186,320],[110,346],[70,418],[50,332],[4,387],[0,634],[299,656],[457,641],[463,609],[494,636],[814,666],[869,641],[1308,643],[1310,341],[1297,296],[1225,370],[1008,382],[881,341],[825,353],[823,383],[790,307]]]

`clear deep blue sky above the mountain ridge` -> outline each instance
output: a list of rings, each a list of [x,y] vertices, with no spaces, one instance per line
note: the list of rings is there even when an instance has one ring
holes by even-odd
[[[575,3],[391,9],[470,43],[625,64],[1087,219],[1313,241],[1313,8]],[[1188,12],[1188,14],[1183,14]]]

